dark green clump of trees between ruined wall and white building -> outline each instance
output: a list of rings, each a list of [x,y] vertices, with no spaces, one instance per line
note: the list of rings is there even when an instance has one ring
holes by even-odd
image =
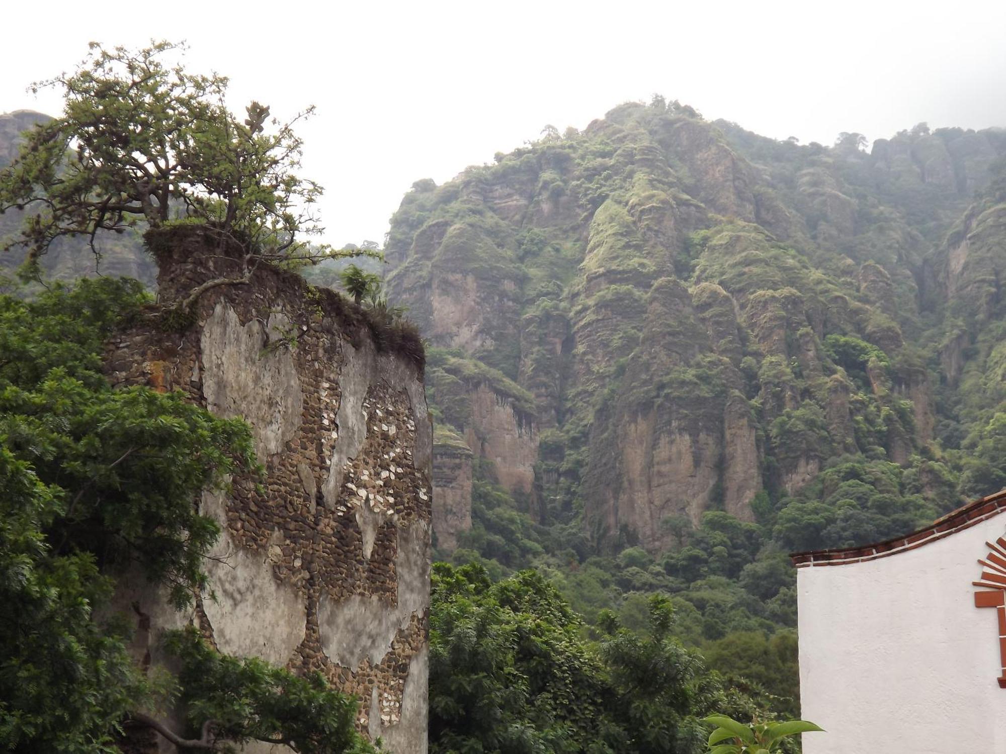
[[[479,565],[436,564],[433,600],[434,752],[697,754],[697,716],[757,709],[674,637],[667,598],[650,600],[647,634],[606,612],[598,640],[533,571],[493,583]]]

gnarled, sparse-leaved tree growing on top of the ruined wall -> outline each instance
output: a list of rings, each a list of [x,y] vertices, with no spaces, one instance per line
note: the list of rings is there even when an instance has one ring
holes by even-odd
[[[75,72],[33,84],[61,89],[64,112],[27,132],[0,173],[0,212],[27,210],[7,247],[27,246],[29,271],[57,238],[82,236],[100,255],[103,233],[177,221],[241,250],[224,281],[246,281],[262,261],[338,253],[303,240],[322,230],[322,189],[297,174],[303,142],[293,128],[313,109],[280,123],[253,102],[240,119],[224,105],[227,79],[172,63],[181,50],[92,43]]]

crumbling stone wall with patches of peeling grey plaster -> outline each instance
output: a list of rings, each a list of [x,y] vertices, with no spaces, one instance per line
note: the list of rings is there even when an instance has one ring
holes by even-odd
[[[161,249],[162,296],[218,273],[186,261],[197,240],[176,258]],[[347,324],[346,306],[297,275],[260,269],[250,285],[208,291],[182,332],[147,322],[108,345],[114,383],[182,390],[246,419],[265,467],[263,479],[233,479],[229,494],[201,501],[223,529],[207,563],[215,600],[175,613],[128,582],[120,599],[137,603],[135,648],[155,662],[158,629],[192,622],[222,651],[321,671],[360,699],[358,726],[371,738],[425,752],[432,430],[423,374],[378,351],[359,321]],[[286,751],[245,749],[260,750]]]

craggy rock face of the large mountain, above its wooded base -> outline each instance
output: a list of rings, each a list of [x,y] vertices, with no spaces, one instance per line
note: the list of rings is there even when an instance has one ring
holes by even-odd
[[[470,374],[527,393],[531,432],[512,389],[429,380],[438,419],[506,487],[532,483],[541,521],[582,510],[598,544],[663,549],[669,520],[751,520],[757,496],[782,501],[843,456],[916,474],[968,340],[946,338],[942,371],[923,351],[955,298],[994,317],[999,205],[940,249],[1003,154],[994,130],[919,126],[867,153],[854,134],[801,147],[627,104],[416,183],[389,285]]]

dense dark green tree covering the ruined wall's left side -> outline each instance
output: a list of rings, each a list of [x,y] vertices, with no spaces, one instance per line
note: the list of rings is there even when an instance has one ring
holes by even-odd
[[[145,713],[159,690],[111,613],[116,577],[136,567],[190,603],[219,532],[193,501],[257,464],[243,422],[102,375],[102,344],[148,302],[139,282],[109,278],[0,297],[0,749],[111,753],[142,725],[206,751],[249,738],[361,750],[352,700],[191,635],[173,642],[181,673],[167,691],[201,735]]]

